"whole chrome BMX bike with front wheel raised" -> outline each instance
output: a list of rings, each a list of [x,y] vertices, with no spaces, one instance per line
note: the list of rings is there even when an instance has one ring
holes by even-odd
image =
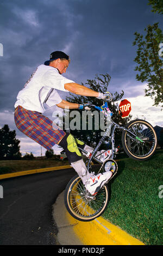
[[[115,158],[115,140],[114,133],[115,129],[122,130],[122,146],[124,151],[130,158],[135,160],[147,160],[155,152],[157,137],[154,128],[150,123],[145,120],[136,119],[127,124],[126,127],[120,126],[119,124],[111,120],[111,112],[108,108],[108,101],[112,99],[108,97],[103,103],[103,107],[99,108],[95,105],[89,105],[92,109],[97,109],[104,112],[105,118],[109,120],[109,126],[102,138],[99,140],[95,150],[88,156],[89,152],[86,152],[82,148],[78,147],[80,151],[87,154],[87,169],[91,170],[92,160],[96,160],[100,164],[99,170],[96,172],[112,171],[111,176],[114,177],[117,173],[117,163]],[[96,156],[98,148],[103,144],[105,140],[111,142],[112,154],[110,159],[102,162],[99,155]],[[111,180],[110,178],[110,180]],[[109,180],[109,181],[110,181]],[[85,188],[81,178],[76,175],[70,182],[68,182],[65,194],[64,194],[65,206],[70,215],[79,221],[87,222],[102,215],[109,203],[109,188],[105,183],[104,186],[98,191],[96,195],[91,195]]]

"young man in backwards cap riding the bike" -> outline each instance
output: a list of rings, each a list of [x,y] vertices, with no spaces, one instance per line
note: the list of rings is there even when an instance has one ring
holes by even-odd
[[[64,148],[67,158],[78,175],[82,178],[86,189],[93,195],[109,180],[112,172],[104,172],[98,176],[87,171],[76,141],[71,134],[67,134],[57,125],[42,115],[46,103],[49,107],[57,105],[59,108],[86,109],[86,105],[70,103],[62,100],[55,90],[71,92],[81,96],[91,96],[105,99],[105,93],[99,93],[83,85],[65,78],[70,58],[66,53],[55,51],[50,59],[36,68],[23,89],[17,95],[15,103],[15,123],[18,129],[29,138],[35,140],[47,150],[58,144]],[[85,150],[92,150],[84,145]]]

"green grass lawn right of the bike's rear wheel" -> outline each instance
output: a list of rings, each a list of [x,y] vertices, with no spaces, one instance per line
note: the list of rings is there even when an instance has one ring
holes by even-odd
[[[124,158],[117,164],[103,217],[146,245],[162,245],[163,198],[159,198],[159,186],[163,185],[163,151],[144,162]]]

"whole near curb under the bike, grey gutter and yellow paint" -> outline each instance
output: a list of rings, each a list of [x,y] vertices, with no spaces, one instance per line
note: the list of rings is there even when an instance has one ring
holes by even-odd
[[[64,192],[57,198],[53,209],[61,245],[145,245],[102,217],[91,222],[74,219],[66,210]]]

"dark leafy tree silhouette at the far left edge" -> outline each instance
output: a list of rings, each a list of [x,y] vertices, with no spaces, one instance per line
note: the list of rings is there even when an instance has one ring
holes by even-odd
[[[8,124],[0,129],[0,159],[20,159],[20,140],[16,139],[15,130],[10,130]]]

